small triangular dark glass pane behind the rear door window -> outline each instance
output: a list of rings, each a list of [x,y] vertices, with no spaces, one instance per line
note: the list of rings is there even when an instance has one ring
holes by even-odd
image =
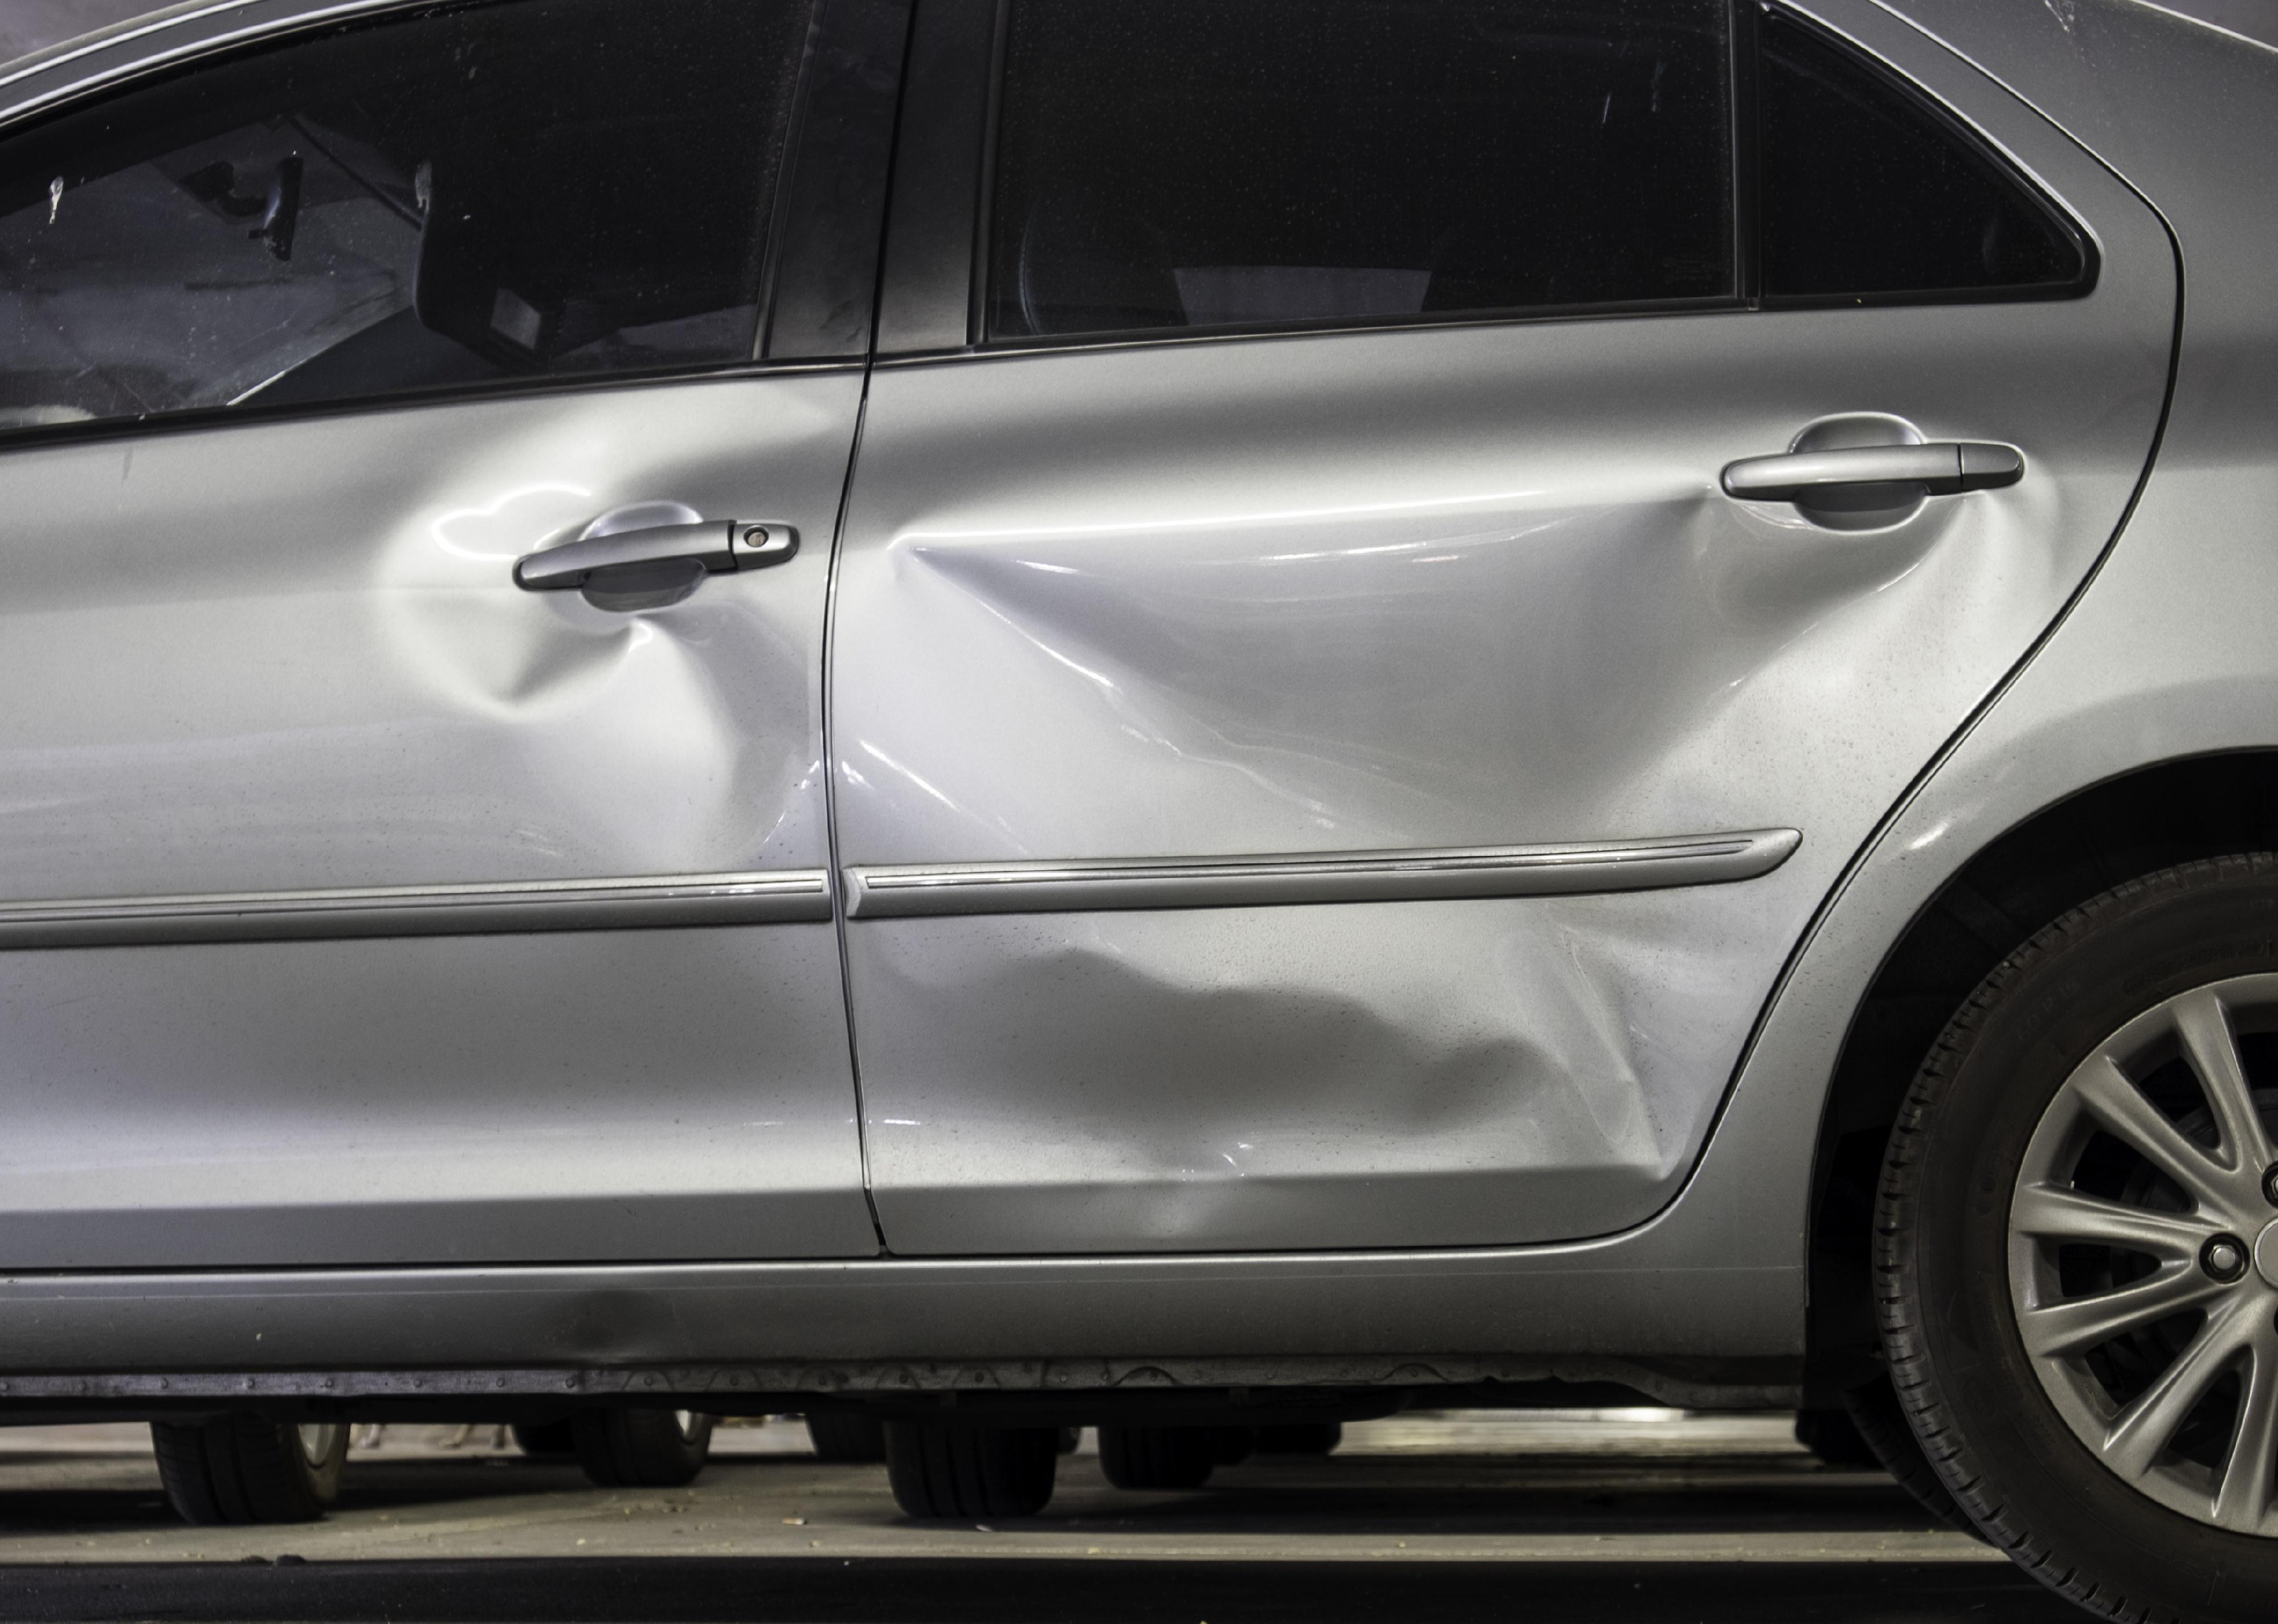
[[[1970,137],[1818,30],[1763,18],[1763,294],[2068,285],[2082,251]]]

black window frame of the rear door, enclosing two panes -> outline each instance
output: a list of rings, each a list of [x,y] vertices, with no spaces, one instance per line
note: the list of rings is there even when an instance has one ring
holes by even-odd
[[[1868,50],[1816,16],[1781,0],[1727,0],[1731,294],[1590,305],[1435,310],[1415,317],[1312,317],[1296,321],[989,337],[995,143],[1002,118],[1014,5],[1016,0],[918,0],[902,130],[895,150],[895,184],[888,203],[888,253],[879,292],[879,360],[1025,355],[1071,348],[1137,348],[1260,337],[1531,326],[1670,314],[2048,303],[2087,298],[2100,276],[2093,232],[1986,132],[1961,116],[1959,109],[1950,107],[1875,50]],[[1775,11],[1820,34],[1825,43],[1843,52],[1861,71],[1877,75],[1911,107],[2005,175],[2073,241],[2080,253],[2080,276],[2068,282],[2011,287],[1768,296],[1763,292],[1759,23]],[[904,175],[911,180],[904,182]],[[961,196],[966,200],[961,225],[948,221],[952,210],[943,205],[943,196]]]

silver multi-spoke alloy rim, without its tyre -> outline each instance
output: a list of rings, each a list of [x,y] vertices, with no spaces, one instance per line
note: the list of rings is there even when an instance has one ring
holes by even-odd
[[[2262,1086],[2257,1086],[2257,1077]],[[2278,1537],[2278,975],[2089,1052],[2009,1200],[2009,1298],[2057,1414],[2130,1487]]]

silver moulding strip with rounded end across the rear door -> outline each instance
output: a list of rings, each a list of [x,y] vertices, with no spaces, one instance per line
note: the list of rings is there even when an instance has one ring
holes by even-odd
[[[850,918],[1093,913],[1292,902],[1435,902],[1718,886],[1768,875],[1795,829],[1661,840],[1476,845],[1417,852],[1128,859],[1073,863],[879,863],[847,870]]]

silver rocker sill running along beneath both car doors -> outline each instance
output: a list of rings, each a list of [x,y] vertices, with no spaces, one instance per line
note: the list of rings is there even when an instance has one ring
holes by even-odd
[[[1781,1269],[1642,1269],[1604,1246],[0,1276],[11,1373],[358,1371],[385,1351],[405,1369],[1257,1360],[1289,1362],[1285,1380],[1321,1358],[1380,1380],[1469,1348],[1781,1383],[1797,1305]]]

